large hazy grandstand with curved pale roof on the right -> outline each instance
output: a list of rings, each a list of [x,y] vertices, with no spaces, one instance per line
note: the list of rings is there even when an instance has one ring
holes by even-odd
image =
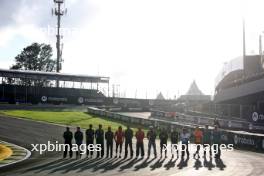
[[[215,111],[254,123],[264,122],[262,62],[261,55],[251,55],[235,58],[225,64],[216,79]]]

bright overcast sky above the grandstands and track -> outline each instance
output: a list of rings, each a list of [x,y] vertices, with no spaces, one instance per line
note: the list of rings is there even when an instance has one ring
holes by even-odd
[[[127,97],[213,94],[223,63],[258,53],[261,0],[66,0],[64,73],[110,76]],[[52,0],[0,0],[0,68],[32,42],[55,46]],[[55,48],[54,48],[55,49]],[[55,50],[54,50],[54,58]],[[147,92],[147,93],[146,93]]]

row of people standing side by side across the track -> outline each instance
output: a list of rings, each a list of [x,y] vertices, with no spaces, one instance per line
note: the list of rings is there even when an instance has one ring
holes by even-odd
[[[132,158],[134,155],[133,146],[132,146],[132,138],[134,136],[134,133],[132,129],[128,126],[126,130],[123,130],[122,127],[118,127],[118,130],[114,133],[112,132],[111,127],[108,127],[107,132],[104,132],[102,129],[102,125],[99,125],[99,128],[97,130],[93,129],[92,124],[89,125],[89,129],[85,131],[86,135],[86,145],[94,144],[94,141],[96,144],[100,144],[101,151],[97,152],[97,157],[104,157],[105,152],[105,143],[106,143],[106,157],[113,157],[113,145],[114,141],[116,144],[116,156],[121,158],[122,154],[122,147],[123,143],[125,143],[125,158],[128,155],[128,149],[130,150],[130,157]],[[203,144],[204,148],[205,145],[208,144],[209,146],[212,145],[212,139],[214,139],[214,142],[220,143],[220,133],[215,127],[214,132],[208,130],[208,126],[205,127],[204,133],[197,127],[192,135],[194,137],[194,143],[195,144]],[[213,137],[214,136],[214,137]],[[69,144],[70,148],[72,146],[72,139],[73,135],[72,132],[70,132],[69,128],[67,127],[66,132],[64,132],[63,135],[65,139],[65,144]],[[145,155],[144,150],[144,138],[145,133],[141,128],[138,128],[137,132],[135,133],[136,137],[136,157],[141,154],[142,157]],[[157,134],[153,127],[150,127],[150,130],[147,132],[146,135],[148,139],[148,157],[150,156],[151,149],[153,149],[153,153],[155,157],[157,157],[157,150],[156,150],[156,137]],[[181,140],[182,144],[185,144],[182,146],[182,154],[181,156],[184,157],[185,153],[187,153],[187,156],[189,157],[189,148],[188,144],[190,141],[191,134],[188,132],[186,128],[183,128],[182,133],[180,134],[176,129],[173,129],[173,131],[170,133],[170,139],[171,139],[171,153],[172,157],[174,157],[174,154],[179,155],[179,149],[178,149],[178,142],[179,139]],[[159,133],[159,139],[160,139],[160,153],[161,156],[163,152],[165,153],[165,156],[167,157],[167,150],[165,147],[167,146],[167,141],[169,138],[169,134],[166,129],[162,129]],[[80,146],[83,143],[83,133],[80,130],[80,127],[77,127],[77,131],[74,133],[74,139],[78,146]],[[175,144],[175,145],[173,145]],[[187,147],[187,148],[186,148]],[[200,145],[197,145],[197,150],[194,154],[199,156],[200,151]],[[176,153],[175,153],[176,152]],[[93,151],[87,150],[86,155],[87,157],[93,156]],[[211,147],[209,149],[210,156],[212,155]],[[72,157],[72,151],[69,150],[69,155]],[[204,150],[204,155],[206,155],[206,150]],[[64,157],[67,156],[67,149],[64,151]],[[76,152],[76,157],[80,157],[80,152]],[[220,151],[216,155],[217,157],[220,157]]]

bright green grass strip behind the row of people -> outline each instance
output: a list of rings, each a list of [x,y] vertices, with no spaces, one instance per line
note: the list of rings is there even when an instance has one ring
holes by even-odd
[[[54,110],[3,110],[1,114],[31,119],[35,121],[43,121],[54,124],[62,124],[67,126],[80,126],[88,128],[92,124],[94,128],[98,128],[99,124],[103,125],[103,129],[107,130],[108,126],[112,127],[112,131],[117,130],[119,126],[126,129],[127,124],[121,121],[116,121],[106,117],[98,117],[90,115],[86,112],[78,111],[54,111]],[[138,126],[130,124],[135,132]]]

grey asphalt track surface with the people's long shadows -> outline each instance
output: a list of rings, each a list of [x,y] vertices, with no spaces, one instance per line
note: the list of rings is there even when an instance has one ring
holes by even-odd
[[[0,139],[31,150],[30,144],[62,142],[63,126],[30,120],[0,116]],[[147,150],[145,141],[145,151]],[[124,146],[123,146],[124,147]],[[135,143],[133,145],[135,147]],[[115,147],[114,147],[115,149]],[[124,148],[123,148],[124,149]],[[135,149],[135,148],[134,148]],[[135,151],[135,150],[134,150]],[[159,144],[157,141],[157,151]],[[74,155],[75,156],[75,155]],[[186,157],[142,159],[62,159],[61,153],[39,155],[33,152],[30,159],[22,163],[0,169],[4,176],[179,176],[179,175],[264,175],[264,154],[234,150],[223,151],[221,160],[209,157],[194,159]]]

